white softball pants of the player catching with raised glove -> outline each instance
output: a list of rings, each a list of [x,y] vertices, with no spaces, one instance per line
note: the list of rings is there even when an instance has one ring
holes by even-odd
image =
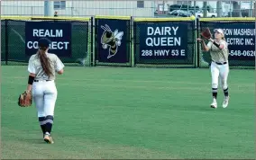
[[[215,62],[211,63],[211,74],[212,74],[212,88],[218,88],[218,82],[220,80],[223,90],[228,87],[227,77],[229,74],[229,65],[218,65]]]

